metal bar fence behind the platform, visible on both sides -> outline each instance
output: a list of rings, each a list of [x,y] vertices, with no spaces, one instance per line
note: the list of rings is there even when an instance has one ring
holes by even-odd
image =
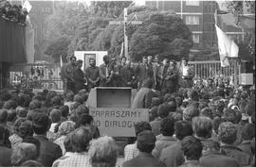
[[[238,83],[240,67],[235,63],[230,63],[229,67],[221,67],[219,60],[189,61],[189,65],[191,65],[194,70],[194,79],[214,78],[220,75],[229,78],[233,76],[234,82]],[[33,84],[35,76],[37,78],[36,82],[38,83],[36,85]],[[25,80],[25,84],[23,85],[22,80]],[[22,85],[25,88],[63,90],[61,66],[58,63],[15,64],[10,68],[9,81],[12,85]]]

